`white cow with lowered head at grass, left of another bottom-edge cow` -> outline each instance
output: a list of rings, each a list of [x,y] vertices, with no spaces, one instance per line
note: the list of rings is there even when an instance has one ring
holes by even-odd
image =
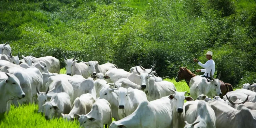
[[[64,120],[74,120],[75,114],[85,115],[89,113],[95,101],[96,99],[91,94],[83,94],[75,99],[69,114],[61,113],[61,115]]]

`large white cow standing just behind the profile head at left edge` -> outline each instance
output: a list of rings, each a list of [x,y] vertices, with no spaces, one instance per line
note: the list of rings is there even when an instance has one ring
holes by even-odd
[[[33,103],[35,96],[37,95],[36,87],[43,85],[43,76],[37,68],[10,68],[6,70],[10,74],[15,75],[20,82],[22,90],[26,94],[26,97],[20,100],[14,99],[13,102],[18,106],[18,102],[22,103]],[[17,102],[18,101],[18,102]]]

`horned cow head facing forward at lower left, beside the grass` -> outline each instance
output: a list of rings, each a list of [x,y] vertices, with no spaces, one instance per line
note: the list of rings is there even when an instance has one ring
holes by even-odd
[[[38,101],[38,112],[44,112],[44,107],[43,104],[45,104],[45,102],[50,101],[51,97],[47,96],[47,93],[49,92],[49,87],[47,88],[46,92],[40,92],[37,89],[37,101]],[[52,91],[52,90],[51,90]]]

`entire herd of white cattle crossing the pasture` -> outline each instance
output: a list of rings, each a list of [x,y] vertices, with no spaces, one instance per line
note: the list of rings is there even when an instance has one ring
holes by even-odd
[[[8,114],[11,104],[37,103],[46,119],[77,119],[85,128],[256,128],[256,84],[222,96],[221,74],[211,80],[195,76],[189,97],[156,74],[156,62],[127,72],[64,54],[67,72],[59,74],[55,57],[19,60],[8,43],[0,45],[0,54],[0,113]]]

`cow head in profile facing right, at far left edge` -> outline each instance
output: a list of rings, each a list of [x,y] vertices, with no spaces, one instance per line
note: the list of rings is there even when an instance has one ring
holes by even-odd
[[[5,79],[5,85],[4,88],[6,88],[5,93],[9,94],[9,99],[13,99],[14,97],[17,97],[19,99],[24,98],[25,97],[25,93],[23,92],[21,86],[20,86],[20,82],[19,79],[13,75],[13,74],[9,74],[9,73],[5,73],[7,75],[6,79]]]

